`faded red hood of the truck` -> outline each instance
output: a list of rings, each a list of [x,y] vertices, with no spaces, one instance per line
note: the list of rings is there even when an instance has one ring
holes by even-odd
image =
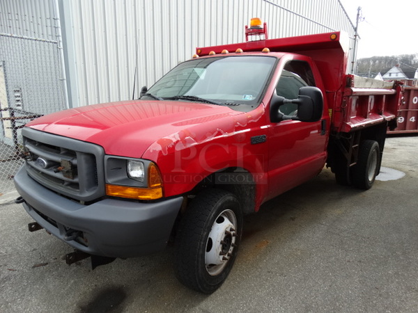
[[[45,115],[26,126],[101,145],[107,154],[141,157],[161,138],[202,122],[231,120],[240,114],[212,104],[137,100],[69,109]]]

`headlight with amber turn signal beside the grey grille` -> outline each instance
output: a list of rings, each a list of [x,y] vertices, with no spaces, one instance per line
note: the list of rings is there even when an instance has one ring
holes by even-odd
[[[104,168],[107,195],[137,200],[164,196],[160,170],[152,161],[106,156]]]

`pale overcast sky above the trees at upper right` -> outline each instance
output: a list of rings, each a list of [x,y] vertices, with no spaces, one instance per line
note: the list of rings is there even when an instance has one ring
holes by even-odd
[[[340,0],[355,25],[361,7],[357,58],[418,54],[418,0]]]

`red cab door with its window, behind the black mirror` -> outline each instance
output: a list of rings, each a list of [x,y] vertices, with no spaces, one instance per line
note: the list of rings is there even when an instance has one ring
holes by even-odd
[[[311,65],[307,61],[288,61],[276,86],[277,95],[296,99],[303,86],[316,86]],[[297,105],[284,104],[280,111],[297,115]],[[325,120],[271,123],[268,140],[269,199],[318,175],[327,157],[325,125]]]

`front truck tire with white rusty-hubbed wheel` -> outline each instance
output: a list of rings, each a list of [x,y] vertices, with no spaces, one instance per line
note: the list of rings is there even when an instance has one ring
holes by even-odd
[[[241,234],[242,212],[235,195],[220,189],[196,195],[178,228],[178,280],[204,294],[218,289],[231,271]]]

